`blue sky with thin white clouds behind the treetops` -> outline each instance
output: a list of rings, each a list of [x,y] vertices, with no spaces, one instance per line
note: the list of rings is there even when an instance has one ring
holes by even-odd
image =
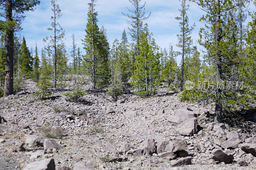
[[[87,22],[88,3],[90,0],[58,0],[57,3],[60,6],[60,10],[63,16],[58,21],[62,28],[65,30],[65,44],[67,51],[70,51],[71,35],[74,33],[77,38],[77,47],[82,49],[85,53],[81,39],[85,36],[85,25]],[[146,2],[146,13],[151,11],[151,16],[144,23],[148,23],[149,31],[153,32],[153,38],[156,39],[156,43],[161,48],[169,47],[169,43],[173,45],[177,44],[177,34],[180,33],[179,21],[175,19],[179,16],[178,9],[180,8],[179,0],[142,0]],[[199,22],[199,18],[204,14],[195,3],[188,2],[190,4],[190,10],[188,11],[188,18],[190,25],[194,22],[196,27],[191,34],[194,43],[198,39],[198,32],[200,27],[204,27],[204,24]],[[98,0],[96,11],[98,11],[98,26],[104,26],[107,30],[108,41],[110,46],[114,39],[121,39],[123,30],[128,32],[128,24],[126,23],[127,17],[123,16],[121,12],[127,13],[128,8],[132,9],[129,0]],[[250,7],[253,9],[252,4]],[[23,30],[20,32],[21,36],[25,36],[28,48],[33,47],[35,49],[35,43],[37,42],[38,50],[43,48],[43,39],[46,36],[51,35],[51,32],[47,30],[51,26],[51,1],[41,0],[41,4],[36,7],[35,11],[28,11],[25,13],[27,16],[22,23]],[[247,17],[247,21],[251,20],[251,17]],[[129,35],[128,35],[129,36]],[[130,37],[130,36],[129,36]],[[200,49],[200,48],[199,48]],[[180,50],[174,46],[174,50]],[[177,58],[179,61],[180,58]]]

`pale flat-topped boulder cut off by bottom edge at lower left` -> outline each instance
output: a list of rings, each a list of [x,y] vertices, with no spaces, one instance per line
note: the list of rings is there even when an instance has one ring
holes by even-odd
[[[54,159],[48,158],[25,165],[22,170],[55,170]]]

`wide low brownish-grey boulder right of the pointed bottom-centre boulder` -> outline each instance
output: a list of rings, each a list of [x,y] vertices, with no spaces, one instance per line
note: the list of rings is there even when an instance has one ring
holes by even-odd
[[[163,152],[179,152],[187,149],[185,140],[176,139],[172,141],[161,141],[157,143],[156,153],[160,154]]]

